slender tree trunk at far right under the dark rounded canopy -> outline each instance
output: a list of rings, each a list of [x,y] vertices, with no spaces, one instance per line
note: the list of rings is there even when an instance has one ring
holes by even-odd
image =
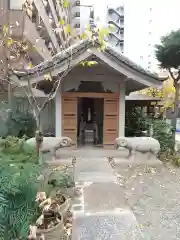
[[[176,123],[177,123],[177,117],[178,117],[178,113],[179,113],[179,90],[180,90],[180,85],[175,80],[174,80],[174,87],[176,89],[176,93],[175,93],[175,100],[174,100],[174,114],[173,114],[173,118],[171,120],[171,124],[173,127],[172,141],[173,141],[173,146],[175,148]]]

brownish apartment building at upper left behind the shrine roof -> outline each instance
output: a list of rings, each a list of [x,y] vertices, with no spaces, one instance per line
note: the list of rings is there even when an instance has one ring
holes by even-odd
[[[65,26],[79,34],[80,1],[67,3],[63,0],[0,0],[1,43],[5,41],[4,26],[9,26],[6,38],[16,40],[10,51],[0,46],[1,75],[5,74],[8,65],[22,69],[29,62],[36,65],[49,60],[73,41]],[[24,53],[22,59],[15,56],[18,47]]]

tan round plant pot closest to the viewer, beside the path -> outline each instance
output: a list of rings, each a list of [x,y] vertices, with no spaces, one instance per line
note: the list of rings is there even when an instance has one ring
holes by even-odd
[[[64,223],[63,216],[60,213],[61,220],[60,222],[49,229],[37,229],[37,240],[41,239],[41,235],[44,235],[45,240],[60,240],[64,236]]]

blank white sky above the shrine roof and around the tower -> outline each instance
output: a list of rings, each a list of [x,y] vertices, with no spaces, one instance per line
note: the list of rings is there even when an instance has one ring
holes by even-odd
[[[149,61],[156,67],[154,45],[160,42],[161,36],[180,28],[179,0],[81,0],[81,4],[94,5],[95,16],[101,22],[106,20],[108,5],[124,4],[124,53],[144,67]]]

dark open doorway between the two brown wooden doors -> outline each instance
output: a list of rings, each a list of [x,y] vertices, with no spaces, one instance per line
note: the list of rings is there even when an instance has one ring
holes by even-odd
[[[103,98],[78,98],[78,146],[103,146]]]

